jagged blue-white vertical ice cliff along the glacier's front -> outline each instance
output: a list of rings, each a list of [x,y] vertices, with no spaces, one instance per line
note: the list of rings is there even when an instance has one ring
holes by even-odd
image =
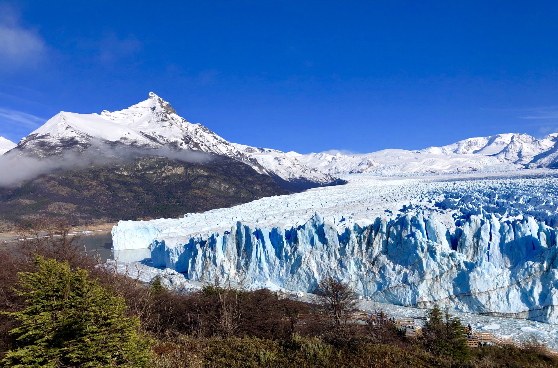
[[[319,214],[289,228],[237,222],[155,240],[151,254],[190,280],[311,291],[332,275],[378,302],[558,323],[558,230],[533,217],[473,214],[450,232],[432,214],[405,214],[339,230]]]

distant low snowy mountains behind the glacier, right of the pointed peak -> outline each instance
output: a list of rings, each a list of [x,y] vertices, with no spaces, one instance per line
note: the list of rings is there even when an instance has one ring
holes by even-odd
[[[409,174],[452,171],[502,171],[558,167],[558,133],[543,140],[507,133],[469,138],[442,147],[407,151],[388,149],[370,154],[307,155],[287,152],[302,164],[328,174]]]

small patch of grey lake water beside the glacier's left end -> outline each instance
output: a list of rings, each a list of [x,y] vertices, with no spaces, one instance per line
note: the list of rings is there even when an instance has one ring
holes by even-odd
[[[151,258],[149,249],[112,250],[110,230],[82,233],[79,244],[85,246],[85,249],[92,255],[97,252],[103,261],[134,262]]]

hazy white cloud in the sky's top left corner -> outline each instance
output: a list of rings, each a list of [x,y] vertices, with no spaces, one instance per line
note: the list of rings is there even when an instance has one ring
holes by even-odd
[[[2,68],[37,64],[44,58],[45,41],[35,30],[20,25],[15,12],[0,4],[0,65]]]

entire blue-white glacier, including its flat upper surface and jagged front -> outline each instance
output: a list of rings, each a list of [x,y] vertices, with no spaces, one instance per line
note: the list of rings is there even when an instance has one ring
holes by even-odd
[[[148,249],[185,283],[309,292],[331,275],[374,302],[558,323],[558,170],[342,178],[180,219],[121,221],[113,248]]]

